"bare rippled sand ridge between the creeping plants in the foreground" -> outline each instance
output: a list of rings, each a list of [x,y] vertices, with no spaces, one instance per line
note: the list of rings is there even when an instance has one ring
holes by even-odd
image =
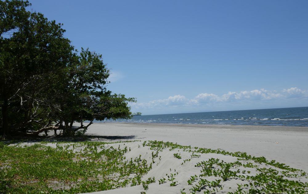
[[[185,189],[185,193],[190,193],[190,189],[195,186],[195,184],[198,184],[198,181],[202,179],[206,179],[208,181],[221,181],[220,187],[214,187],[217,188],[219,191],[215,193],[226,193],[229,191],[236,191],[238,185],[237,184],[249,184],[249,180],[246,180],[245,178],[241,177],[231,177],[226,180],[223,180],[219,176],[210,176],[210,177],[202,177],[200,176],[202,174],[202,165],[198,165],[202,163],[203,161],[209,161],[212,159],[217,160],[218,162],[222,162],[224,164],[226,163],[236,163],[238,162],[240,165],[232,165],[231,171],[237,172],[237,175],[240,176],[256,176],[258,173],[257,168],[259,169],[274,169],[278,171],[283,171],[282,169],[276,168],[271,165],[267,165],[264,163],[256,163],[253,160],[241,160],[240,157],[230,156],[228,154],[218,154],[218,153],[200,153],[197,150],[199,148],[193,148],[189,147],[188,149],[184,148],[170,148],[166,147],[162,150],[156,150],[151,149],[151,143],[147,144],[146,142],[125,142],[125,143],[116,143],[111,144],[109,146],[117,147],[119,145],[119,148],[124,148],[124,146],[129,147],[129,152],[125,154],[126,158],[129,160],[129,158],[134,158],[136,156],[141,157],[142,160],[147,160],[148,162],[154,161],[152,164],[152,169],[142,177],[143,181],[146,181],[148,179],[155,179],[155,183],[148,184],[148,189],[144,189],[143,185],[136,185],[131,187],[125,187],[125,188],[118,188],[118,189],[112,189],[107,191],[100,191],[100,192],[94,192],[97,194],[111,194],[111,193],[125,193],[125,194],[133,194],[133,193],[147,193],[147,194],[155,194],[155,193],[166,193],[166,194],[172,194],[172,193],[180,193],[181,189]],[[195,151],[195,152],[194,152]],[[153,157],[153,153],[157,153],[158,155]],[[175,155],[179,155],[181,158],[175,157]],[[189,160],[187,160],[189,159]],[[240,159],[240,160],[239,160]],[[185,162],[186,160],[186,162]],[[242,165],[241,165],[242,164]],[[253,165],[254,167],[250,166],[244,166],[244,165]],[[217,165],[213,165],[212,169],[220,170],[220,168]],[[168,176],[174,175],[174,182],[176,184],[174,186],[170,186],[172,183],[171,180],[169,180]],[[194,181],[192,181],[191,184],[188,184],[188,181],[191,176],[195,176]],[[165,182],[161,184],[159,180],[162,178],[165,178]],[[308,182],[308,178],[300,177],[300,178],[290,178],[292,180],[299,180],[301,182]],[[205,186],[202,187],[199,191],[196,193],[203,193],[206,191],[205,189],[210,189],[213,187]],[[221,190],[220,190],[221,189]],[[246,191],[248,191],[248,187],[245,187]]]

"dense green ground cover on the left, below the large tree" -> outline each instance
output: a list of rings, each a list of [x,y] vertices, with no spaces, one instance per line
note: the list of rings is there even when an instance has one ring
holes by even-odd
[[[104,142],[1,145],[0,193],[108,190],[142,184],[141,177],[151,169],[140,157],[126,159],[127,146],[121,149]]]

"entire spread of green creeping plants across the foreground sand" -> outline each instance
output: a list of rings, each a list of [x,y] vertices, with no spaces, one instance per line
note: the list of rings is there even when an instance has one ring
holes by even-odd
[[[170,187],[178,187],[180,184],[176,179],[179,173],[176,169],[168,170],[165,177],[144,179],[154,164],[159,165],[160,152],[170,151],[176,157],[172,153],[174,149],[192,153],[184,159],[186,162],[182,165],[206,153],[237,158],[235,162],[210,158],[195,163],[200,173],[187,177],[188,187],[179,189],[182,194],[221,191],[228,194],[308,193],[307,181],[301,181],[308,178],[305,172],[276,161],[268,161],[264,157],[221,149],[180,146],[171,142],[140,142],[141,146],[136,149],[143,146],[152,150],[152,157],[147,161],[142,159],[142,155],[125,157],[131,151],[130,143],[0,143],[0,193],[82,193],[135,185],[142,185],[143,193],[146,193],[149,184],[167,183]],[[251,171],[256,173],[252,175]],[[226,183],[232,180],[238,181],[237,187],[226,188]]]

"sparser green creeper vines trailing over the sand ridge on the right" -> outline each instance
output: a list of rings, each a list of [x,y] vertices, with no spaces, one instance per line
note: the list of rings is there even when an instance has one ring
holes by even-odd
[[[289,180],[287,178],[299,178],[307,177],[307,173],[302,170],[291,168],[285,164],[276,162],[275,160],[267,161],[265,157],[254,157],[243,152],[227,152],[222,149],[206,149],[198,148],[191,146],[181,146],[171,142],[160,142],[160,141],[149,141],[145,144],[150,146],[150,149],[160,150],[168,148],[169,150],[173,149],[182,149],[183,151],[193,152],[190,160],[193,157],[200,157],[200,155],[194,153],[217,153],[223,155],[230,155],[233,157],[238,157],[235,162],[226,163],[220,161],[218,158],[210,158],[208,161],[198,162],[195,167],[201,168],[200,174],[193,175],[190,179],[187,180],[188,185],[194,184],[189,190],[189,193],[196,193],[203,191],[205,194],[217,193],[224,189],[223,183],[231,179],[240,179],[241,181],[247,181],[249,184],[237,184],[237,188],[228,188],[229,191],[227,194],[240,194],[240,193],[308,193],[308,183],[301,182],[300,180]],[[177,155],[174,154],[174,157]],[[182,163],[189,162],[190,160],[186,159]],[[245,161],[244,163],[240,161]],[[249,162],[253,161],[256,164],[265,164],[268,167],[276,167],[279,170],[272,168],[259,168],[258,165],[254,165]],[[243,168],[253,168],[257,171],[255,176],[244,175],[246,170],[238,169],[239,167]],[[247,170],[247,173],[250,174],[250,171]],[[219,177],[220,179],[215,179],[214,181],[209,181],[205,177]],[[181,194],[186,194],[185,188],[180,190]]]

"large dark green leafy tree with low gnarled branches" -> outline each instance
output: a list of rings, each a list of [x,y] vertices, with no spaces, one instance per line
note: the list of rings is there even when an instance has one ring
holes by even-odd
[[[107,90],[102,55],[78,52],[62,24],[27,11],[30,5],[0,1],[0,134],[66,132],[87,129],[94,119],[130,118],[135,99]]]

